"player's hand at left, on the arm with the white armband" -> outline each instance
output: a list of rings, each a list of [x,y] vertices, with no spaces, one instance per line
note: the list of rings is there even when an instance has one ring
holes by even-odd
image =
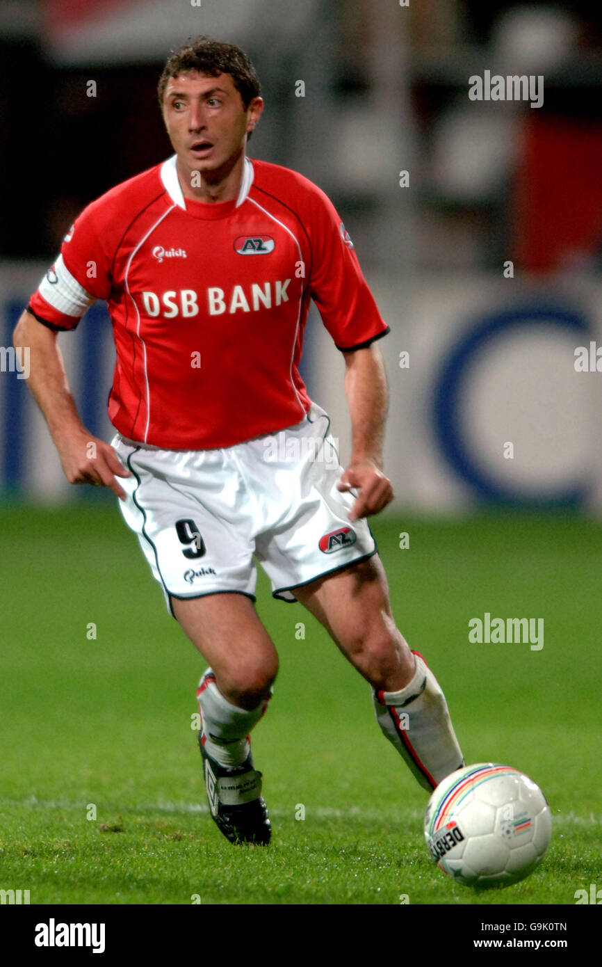
[[[87,433],[85,429],[55,438],[63,470],[70,484],[108,486],[120,500],[126,491],[117,477],[131,477],[108,443]]]

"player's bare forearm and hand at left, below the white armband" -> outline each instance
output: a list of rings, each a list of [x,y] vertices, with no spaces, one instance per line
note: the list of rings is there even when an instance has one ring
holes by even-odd
[[[93,436],[82,424],[73,400],[57,333],[27,309],[14,329],[14,347],[28,349],[27,384],[35,397],[50,430],[70,484],[108,486],[122,500],[126,491],[117,477],[130,477],[113,448]]]

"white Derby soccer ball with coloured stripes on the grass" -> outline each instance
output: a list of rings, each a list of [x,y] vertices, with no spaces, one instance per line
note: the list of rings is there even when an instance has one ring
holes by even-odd
[[[444,778],[424,817],[426,844],[457,883],[505,887],[528,876],[552,835],[552,813],[528,776],[493,762]]]

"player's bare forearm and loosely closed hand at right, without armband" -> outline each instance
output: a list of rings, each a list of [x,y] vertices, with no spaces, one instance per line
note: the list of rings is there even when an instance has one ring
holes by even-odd
[[[383,356],[374,343],[343,355],[352,455],[337,486],[339,490],[358,488],[358,499],[349,513],[350,520],[357,520],[379,513],[393,499],[391,482],[383,473],[387,376]]]

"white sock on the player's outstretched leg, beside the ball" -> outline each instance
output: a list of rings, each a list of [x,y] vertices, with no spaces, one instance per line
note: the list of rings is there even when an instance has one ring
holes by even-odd
[[[389,742],[404,757],[416,779],[432,792],[464,765],[445,696],[417,652],[416,673],[399,691],[373,691],[376,718]]]

